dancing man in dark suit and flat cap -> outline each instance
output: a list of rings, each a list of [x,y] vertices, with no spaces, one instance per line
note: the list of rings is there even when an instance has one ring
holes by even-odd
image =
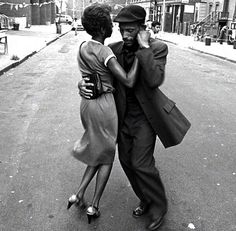
[[[158,40],[150,41],[150,33],[143,30],[145,17],[146,12],[140,6],[122,8],[114,21],[119,23],[123,41],[110,47],[126,72],[135,55],[140,63],[140,74],[133,88],[126,88],[118,81],[114,84],[119,121],[117,142],[121,166],[140,200],[133,216],[138,218],[148,212],[151,222],[147,228],[157,230],[167,212],[167,199],[153,157],[156,134],[165,147],[170,147],[181,142],[188,128],[176,136],[166,125],[165,117],[171,117],[175,104],[158,87],[164,81],[168,48]],[[79,83],[80,94],[89,98],[86,85]],[[173,130],[176,131],[175,127]]]

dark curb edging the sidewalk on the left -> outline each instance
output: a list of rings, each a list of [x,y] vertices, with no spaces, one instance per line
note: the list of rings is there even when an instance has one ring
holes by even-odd
[[[26,61],[28,58],[32,57],[33,55],[37,54],[38,52],[40,52],[41,50],[43,50],[45,47],[47,47],[48,45],[50,45],[51,43],[55,42],[56,40],[58,40],[59,38],[61,38],[62,36],[64,36],[65,34],[69,33],[69,31],[58,35],[56,38],[52,39],[51,41],[47,42],[45,46],[43,46],[42,48],[38,49],[37,51],[33,51],[32,53],[26,55],[25,57],[23,57],[22,59],[20,59],[19,61],[16,61],[8,66],[6,66],[5,68],[3,68],[2,70],[0,70],[0,76],[3,75],[5,72],[9,71],[12,68],[17,67],[18,65],[20,65],[21,63],[23,63],[24,61]]]

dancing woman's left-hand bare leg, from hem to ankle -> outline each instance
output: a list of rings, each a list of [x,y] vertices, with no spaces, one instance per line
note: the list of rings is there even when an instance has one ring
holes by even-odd
[[[79,190],[77,193],[78,198],[83,199],[84,193],[90,183],[90,181],[93,179],[94,175],[98,171],[99,166],[87,166],[83,178],[81,180]]]

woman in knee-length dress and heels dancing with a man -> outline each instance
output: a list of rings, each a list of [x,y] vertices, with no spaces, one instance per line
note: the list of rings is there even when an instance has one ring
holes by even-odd
[[[138,60],[135,58],[128,74],[116,60],[112,50],[104,46],[106,38],[112,34],[110,7],[95,3],[84,10],[82,24],[90,41],[84,42],[78,52],[78,64],[82,77],[99,74],[103,84],[103,94],[93,100],[81,99],[80,113],[84,134],[75,144],[73,155],[87,164],[78,193],[69,198],[68,209],[77,204],[85,208],[84,194],[95,174],[96,186],[92,204],[87,208],[88,223],[100,215],[99,201],[111,173],[116,150],[117,112],[112,92],[113,78],[132,87],[138,73]],[[85,61],[84,61],[85,60]]]

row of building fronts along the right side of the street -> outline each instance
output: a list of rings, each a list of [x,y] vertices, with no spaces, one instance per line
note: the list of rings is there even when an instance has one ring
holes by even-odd
[[[217,34],[236,20],[235,0],[127,0],[144,7],[147,20],[158,20],[164,31],[190,34],[190,25],[200,23]]]

